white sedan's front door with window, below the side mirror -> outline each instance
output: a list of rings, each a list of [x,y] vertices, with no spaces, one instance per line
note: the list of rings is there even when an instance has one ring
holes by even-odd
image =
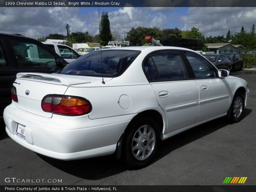
[[[199,89],[199,113],[196,123],[223,115],[228,111],[230,87],[225,78],[219,78],[216,68],[204,57],[184,51]]]

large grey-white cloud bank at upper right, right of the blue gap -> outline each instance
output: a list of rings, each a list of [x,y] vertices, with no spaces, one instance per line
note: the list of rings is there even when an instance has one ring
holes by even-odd
[[[190,7],[188,14],[180,17],[182,30],[196,27],[204,36],[226,36],[228,29],[234,34],[242,26],[250,31],[256,23],[255,7]]]

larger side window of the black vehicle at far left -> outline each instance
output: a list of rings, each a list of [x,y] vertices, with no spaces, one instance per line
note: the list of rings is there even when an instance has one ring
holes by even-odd
[[[18,67],[57,68],[55,57],[38,44],[29,41],[10,40]]]

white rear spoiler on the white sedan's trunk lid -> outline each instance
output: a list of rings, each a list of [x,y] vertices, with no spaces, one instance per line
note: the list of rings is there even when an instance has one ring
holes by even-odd
[[[82,80],[81,78],[76,78],[73,76],[68,76],[66,78],[63,78],[60,74],[48,74],[48,73],[18,73],[16,75],[17,79],[24,78],[24,77],[39,77],[32,79],[33,81],[49,81],[48,83],[52,84],[62,84],[62,85],[75,85],[75,84],[85,84],[85,83],[91,83],[86,80]],[[41,77],[41,79],[40,79]],[[50,79],[46,79],[50,78]],[[56,81],[57,80],[57,81]]]

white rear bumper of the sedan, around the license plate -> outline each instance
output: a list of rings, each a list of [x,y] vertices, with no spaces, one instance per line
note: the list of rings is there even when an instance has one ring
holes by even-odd
[[[15,108],[12,104],[4,109],[5,130],[14,141],[39,154],[65,160],[113,154],[132,116],[111,118],[112,123],[102,124],[102,119],[90,120],[88,116],[73,119],[57,116],[55,120],[53,116],[49,119]],[[58,117],[62,117],[62,121]],[[113,119],[116,119],[115,123]],[[108,118],[105,122],[109,122]],[[26,126],[25,140],[16,135],[18,124]]]

